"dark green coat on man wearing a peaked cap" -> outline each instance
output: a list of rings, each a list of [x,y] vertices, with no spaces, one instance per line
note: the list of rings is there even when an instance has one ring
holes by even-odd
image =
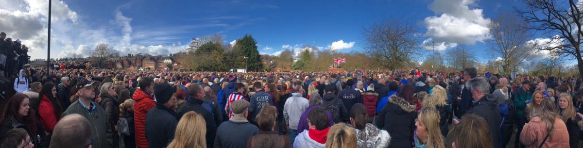
[[[106,138],[106,112],[101,108],[100,105],[97,105],[94,102],[91,102],[94,109],[92,109],[91,114],[89,111],[83,107],[82,103],[79,100],[75,101],[74,103],[67,108],[61,117],[65,117],[66,115],[70,114],[79,114],[89,121],[91,124],[91,137],[93,138],[93,145],[94,148],[109,148],[111,146],[107,145],[107,138]]]

